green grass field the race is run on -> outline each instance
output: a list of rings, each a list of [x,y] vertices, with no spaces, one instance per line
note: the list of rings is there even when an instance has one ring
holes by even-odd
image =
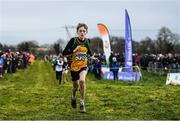
[[[0,80],[0,119],[180,120],[180,86],[165,80],[147,72],[138,83],[97,81],[88,74],[87,113],[81,114],[70,105],[70,77],[59,85],[51,65],[37,61]]]

